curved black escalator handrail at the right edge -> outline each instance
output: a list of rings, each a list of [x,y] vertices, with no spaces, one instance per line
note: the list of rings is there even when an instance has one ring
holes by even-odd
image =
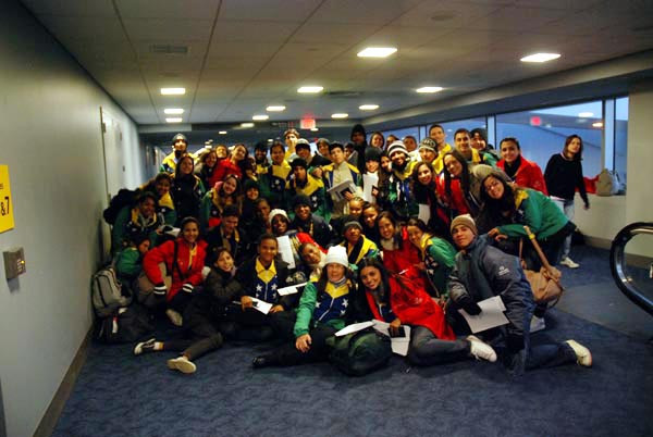
[[[653,223],[632,223],[619,230],[609,249],[609,269],[619,290],[642,310],[653,315],[653,300],[637,289],[634,280],[626,274],[625,270],[626,257],[624,255],[624,249],[626,244],[638,234],[653,235]]]

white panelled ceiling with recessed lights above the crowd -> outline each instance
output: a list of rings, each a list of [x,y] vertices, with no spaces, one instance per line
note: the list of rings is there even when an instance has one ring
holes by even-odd
[[[650,0],[23,0],[139,124],[353,118],[653,48]],[[187,54],[152,53],[187,46]],[[367,46],[394,46],[364,60]],[[537,51],[562,53],[523,64]],[[300,96],[319,84],[321,96]],[[424,85],[445,88],[417,95]],[[163,97],[161,87],[185,87]],[[331,92],[348,91],[347,96]],[[377,103],[372,113],[358,107]]]

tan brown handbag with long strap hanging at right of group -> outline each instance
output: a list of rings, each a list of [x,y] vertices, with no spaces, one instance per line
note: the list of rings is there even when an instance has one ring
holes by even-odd
[[[565,287],[563,287],[560,284],[563,273],[549,263],[549,260],[544,255],[544,252],[542,252],[542,248],[540,248],[540,245],[535,239],[535,235],[530,230],[530,228],[528,226],[523,226],[523,229],[526,230],[529,240],[533,245],[535,252],[538,252],[540,261],[542,261],[542,267],[539,272],[523,269],[526,278],[531,286],[531,290],[533,291],[535,303],[555,307],[565,291]],[[520,240],[519,259],[521,260],[523,266],[523,260],[521,259],[522,246],[523,241]]]

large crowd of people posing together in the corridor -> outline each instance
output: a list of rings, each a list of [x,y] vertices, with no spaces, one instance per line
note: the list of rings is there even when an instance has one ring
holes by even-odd
[[[568,257],[574,196],[584,191],[582,140],[567,138],[544,174],[516,138],[495,151],[484,129],[458,129],[454,146],[441,125],[429,137],[369,136],[347,143],[295,129],[282,140],[187,152],[182,134],[161,173],[146,183],[113,225],[115,269],[181,336],[139,342],[135,354],[178,351],[170,369],[224,341],[282,340],[255,367],[326,360],[329,339],[362,321],[410,326],[407,359],[432,365],[501,357],[512,374],[577,362],[590,351],[567,340],[532,346],[530,324],[546,310],[533,301],[522,266]],[[175,236],[176,235],[176,236]],[[153,285],[138,290],[139,276]],[[167,277],[171,280],[167,283]],[[471,335],[460,312],[501,296],[508,324]]]

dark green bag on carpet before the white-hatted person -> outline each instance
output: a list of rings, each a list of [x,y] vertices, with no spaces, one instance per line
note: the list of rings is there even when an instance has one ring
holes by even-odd
[[[390,337],[369,327],[342,337],[330,337],[329,361],[349,376],[362,376],[383,367],[392,357]]]

